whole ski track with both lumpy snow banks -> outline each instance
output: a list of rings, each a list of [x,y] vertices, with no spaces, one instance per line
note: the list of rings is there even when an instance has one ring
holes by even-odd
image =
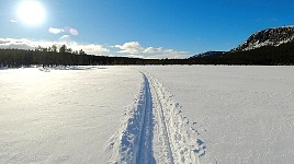
[[[199,163],[206,145],[155,77],[143,74],[142,90],[111,138],[109,163]]]

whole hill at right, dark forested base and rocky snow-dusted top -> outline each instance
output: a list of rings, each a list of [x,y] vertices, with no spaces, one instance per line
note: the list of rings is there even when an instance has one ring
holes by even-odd
[[[294,26],[263,30],[228,52],[207,51],[190,60],[201,65],[294,65]]]

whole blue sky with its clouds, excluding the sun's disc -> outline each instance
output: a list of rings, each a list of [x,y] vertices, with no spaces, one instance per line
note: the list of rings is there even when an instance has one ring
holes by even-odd
[[[22,1],[0,0],[0,47],[65,43],[95,55],[183,58],[294,24],[293,0],[38,0],[37,25],[20,20]]]

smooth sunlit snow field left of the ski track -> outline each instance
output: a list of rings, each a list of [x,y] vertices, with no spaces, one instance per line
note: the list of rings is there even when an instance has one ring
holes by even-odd
[[[106,163],[140,83],[121,67],[0,70],[0,163]]]

